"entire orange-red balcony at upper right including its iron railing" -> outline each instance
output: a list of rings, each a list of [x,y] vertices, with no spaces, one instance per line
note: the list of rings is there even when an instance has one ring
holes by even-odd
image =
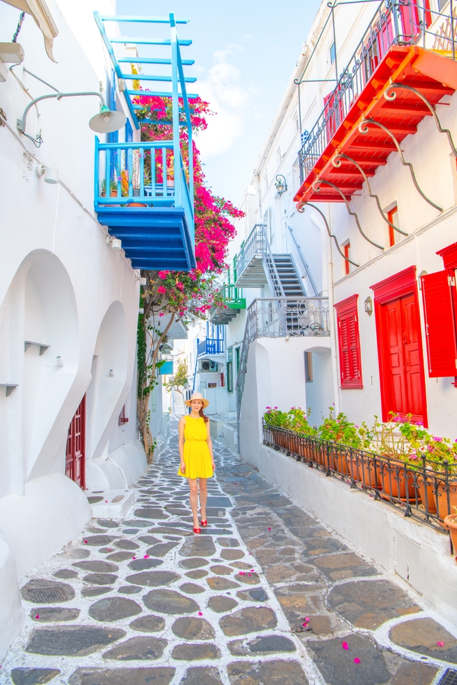
[[[316,125],[306,134],[295,202],[349,201],[361,190],[363,173],[375,175],[397,150],[395,139],[401,143],[417,132],[425,116],[432,116],[420,95],[434,108],[457,90],[457,62],[452,59],[457,49],[450,37],[443,38],[451,34],[443,32],[446,18],[439,15],[432,24],[430,12],[425,18],[419,13],[412,1],[381,3]],[[425,38],[424,25],[430,27]],[[426,47],[415,45],[418,40]],[[375,123],[364,123],[366,119]],[[362,171],[336,155],[351,158]]]

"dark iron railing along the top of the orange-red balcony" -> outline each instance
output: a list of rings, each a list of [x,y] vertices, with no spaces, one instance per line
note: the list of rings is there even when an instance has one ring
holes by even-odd
[[[421,17],[419,17],[419,10]],[[349,60],[328,101],[319,114],[317,122],[299,151],[300,183],[303,183],[319,160],[325,148],[343,124],[349,110],[355,105],[363,88],[375,72],[378,64],[393,45],[415,45],[425,35],[434,35],[425,28],[428,26],[426,15],[439,14],[428,8],[419,8],[416,2],[408,0],[382,0],[373,19],[365,30],[354,54]],[[452,42],[452,53],[455,55],[454,36],[447,38]]]

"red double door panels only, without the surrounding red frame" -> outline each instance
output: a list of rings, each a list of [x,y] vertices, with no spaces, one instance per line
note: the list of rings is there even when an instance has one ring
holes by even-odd
[[[419,321],[414,293],[381,306],[384,371],[384,417],[388,412],[399,416],[412,414],[423,421],[422,360]]]

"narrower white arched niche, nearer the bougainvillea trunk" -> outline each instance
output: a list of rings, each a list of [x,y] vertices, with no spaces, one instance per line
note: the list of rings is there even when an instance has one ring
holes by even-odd
[[[113,302],[101,322],[87,390],[87,457],[101,456],[118,420],[127,377],[127,320],[120,302]]]

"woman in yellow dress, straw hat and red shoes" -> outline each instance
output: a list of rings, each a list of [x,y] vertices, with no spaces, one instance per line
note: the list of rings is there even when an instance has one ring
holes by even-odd
[[[186,405],[191,408],[190,414],[180,419],[180,469],[178,475],[187,478],[190,489],[190,507],[194,519],[194,533],[201,533],[198,520],[198,491],[200,489],[201,525],[206,527],[206,499],[208,490],[206,480],[212,476],[214,457],[212,456],[212,442],[208,426],[208,416],[203,409],[208,407],[208,400],[201,393],[193,393],[186,399]]]

